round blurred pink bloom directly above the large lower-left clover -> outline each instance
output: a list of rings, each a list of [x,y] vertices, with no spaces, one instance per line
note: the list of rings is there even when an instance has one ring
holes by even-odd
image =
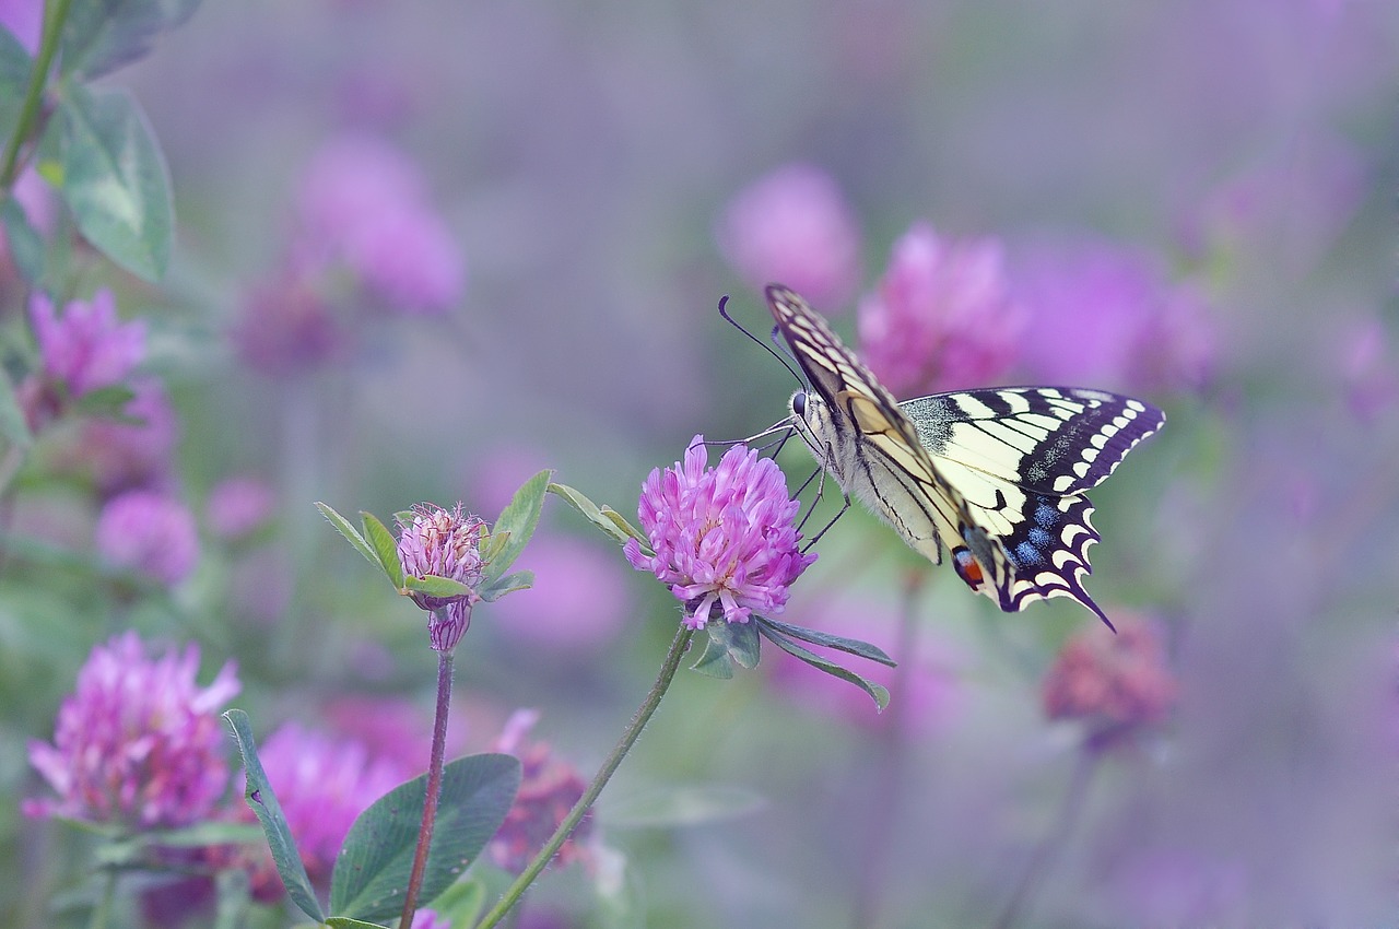
[[[199,530],[193,513],[179,501],[133,490],[113,497],[102,508],[97,548],[118,568],[132,568],[175,585],[199,562]]]

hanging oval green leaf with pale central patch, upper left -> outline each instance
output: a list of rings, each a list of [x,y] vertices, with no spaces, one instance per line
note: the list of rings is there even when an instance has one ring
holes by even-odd
[[[169,171],[136,101],[70,84],[59,102],[63,199],[83,236],[147,281],[165,273],[175,213]]]

